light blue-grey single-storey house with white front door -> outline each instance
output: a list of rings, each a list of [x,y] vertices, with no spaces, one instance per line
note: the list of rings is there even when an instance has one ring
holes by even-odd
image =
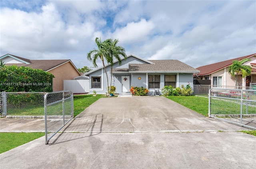
[[[110,80],[110,65],[106,65],[108,80]],[[122,65],[116,61],[113,64],[112,84],[116,93],[129,92],[131,86],[145,87],[149,90],[162,89],[165,85],[193,87],[193,73],[198,70],[178,60],[144,60],[130,54],[122,59]],[[106,93],[106,74],[103,66],[85,73],[90,76],[90,93]],[[109,83],[109,82],[108,82]]]

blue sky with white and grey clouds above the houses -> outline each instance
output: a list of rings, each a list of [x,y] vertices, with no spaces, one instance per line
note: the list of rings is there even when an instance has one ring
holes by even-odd
[[[92,67],[95,38],[198,68],[256,53],[256,1],[0,0],[0,56]]]

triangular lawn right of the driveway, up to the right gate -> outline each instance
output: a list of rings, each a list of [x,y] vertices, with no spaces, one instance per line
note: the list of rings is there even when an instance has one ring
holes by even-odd
[[[167,98],[208,117],[208,97],[167,96]]]

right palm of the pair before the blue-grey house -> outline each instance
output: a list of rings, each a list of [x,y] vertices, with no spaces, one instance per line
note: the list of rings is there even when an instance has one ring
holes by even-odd
[[[108,48],[108,63],[111,66],[111,70],[110,70],[110,82],[109,82],[109,91],[110,91],[110,87],[111,87],[111,83],[112,83],[112,72],[113,72],[113,62],[114,60],[118,60],[119,62],[119,66],[122,65],[122,60],[120,58],[120,56],[122,56],[125,60],[127,58],[126,54],[125,54],[125,49],[122,46],[116,46],[116,44],[119,42],[118,39],[115,39],[114,41],[111,41],[111,44]]]

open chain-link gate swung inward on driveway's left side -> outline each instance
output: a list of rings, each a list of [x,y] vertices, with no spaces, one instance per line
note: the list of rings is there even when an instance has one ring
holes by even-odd
[[[44,97],[45,143],[74,117],[72,91],[46,93]]]

